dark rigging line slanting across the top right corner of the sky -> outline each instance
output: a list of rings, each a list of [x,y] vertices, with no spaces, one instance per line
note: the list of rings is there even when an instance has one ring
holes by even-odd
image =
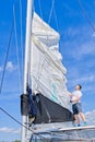
[[[82,10],[82,12],[83,12],[83,14],[84,14],[84,16],[86,17],[87,23],[90,24],[90,26],[92,27],[92,29],[95,32],[95,27],[94,27],[92,21],[90,20],[90,17],[88,17],[88,15],[87,15],[87,13],[86,13],[86,11],[85,11],[85,9],[84,9],[84,7],[83,7],[81,0],[78,0],[78,3],[79,3],[79,5],[80,5],[80,8],[81,8],[81,10]]]

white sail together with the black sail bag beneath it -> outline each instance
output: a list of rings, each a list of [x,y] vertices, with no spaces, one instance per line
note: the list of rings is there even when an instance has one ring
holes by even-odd
[[[70,96],[66,86],[67,70],[59,52],[60,36],[36,13],[32,25],[29,87],[33,94],[37,94],[34,102],[37,108],[35,122],[70,120],[72,114],[69,110]],[[56,110],[58,116],[55,114]]]

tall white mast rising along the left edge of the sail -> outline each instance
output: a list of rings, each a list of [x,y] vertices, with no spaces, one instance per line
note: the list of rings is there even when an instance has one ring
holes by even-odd
[[[28,72],[28,50],[31,48],[31,33],[32,33],[32,8],[33,0],[27,0],[27,14],[26,14],[26,39],[25,39],[25,61],[24,61],[24,94],[26,94],[27,72]],[[22,138],[21,142],[26,142],[27,134],[27,116],[22,116]]]

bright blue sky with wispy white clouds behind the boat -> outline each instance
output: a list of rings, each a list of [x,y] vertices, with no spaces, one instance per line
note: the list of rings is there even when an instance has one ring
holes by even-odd
[[[81,0],[87,16],[95,25],[95,0]],[[14,0],[0,2],[0,81],[13,20]],[[83,110],[87,121],[95,125],[95,32],[84,16],[78,0],[34,0],[35,11],[60,34],[60,52],[67,68],[68,90],[73,91],[80,83],[83,88]],[[48,7],[47,7],[48,5]],[[22,0],[22,47],[25,43],[26,0]],[[50,19],[49,19],[50,17]],[[13,32],[0,106],[21,121],[20,94],[22,93],[22,72],[19,72],[17,50],[21,54],[20,1],[16,1],[15,26],[17,47]],[[13,29],[14,31],[14,29]],[[20,64],[22,56],[20,56]],[[22,67],[22,66],[21,66]],[[21,68],[20,68],[21,70]],[[91,125],[91,123],[90,123]],[[0,110],[0,140],[20,139],[21,126]]]

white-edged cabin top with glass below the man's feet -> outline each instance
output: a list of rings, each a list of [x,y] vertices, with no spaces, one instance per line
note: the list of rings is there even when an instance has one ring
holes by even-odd
[[[31,142],[95,142],[95,126],[31,129]]]

